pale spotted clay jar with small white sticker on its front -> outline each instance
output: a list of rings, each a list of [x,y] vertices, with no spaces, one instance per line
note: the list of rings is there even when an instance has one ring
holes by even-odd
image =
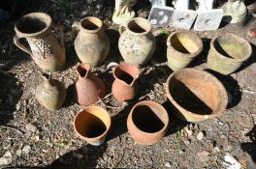
[[[125,62],[144,66],[151,58],[155,50],[151,29],[150,22],[141,17],[133,18],[125,26],[119,27],[121,36],[118,47]]]

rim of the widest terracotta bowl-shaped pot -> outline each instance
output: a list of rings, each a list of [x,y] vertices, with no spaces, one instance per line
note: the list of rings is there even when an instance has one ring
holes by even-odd
[[[217,90],[220,91],[219,93],[222,93],[223,96],[221,98],[221,101],[220,101],[220,104],[222,104],[222,106],[220,106],[219,110],[218,111],[215,111],[213,110],[211,112],[211,114],[209,115],[201,115],[201,114],[197,114],[197,113],[193,113],[191,111],[188,111],[186,110],[185,108],[183,108],[182,106],[180,106],[176,100],[172,97],[171,95],[171,92],[169,90],[169,86],[170,86],[170,81],[171,79],[177,74],[179,73],[180,71],[188,71],[188,72],[192,72],[192,71],[197,71],[196,73],[201,73],[201,74],[205,74],[208,76],[208,80],[212,80],[212,81],[215,81],[215,83],[218,85],[218,88]],[[196,118],[196,119],[199,119],[198,121],[202,121],[202,119],[204,120],[207,120],[207,119],[211,119],[211,118],[214,118],[214,117],[217,117],[221,114],[224,113],[226,107],[227,107],[227,104],[228,104],[228,94],[227,94],[227,91],[226,91],[226,88],[223,86],[223,84],[214,76],[212,75],[211,73],[209,73],[208,71],[205,71],[205,70],[199,70],[199,69],[195,69],[195,68],[186,68],[186,69],[182,69],[182,70],[177,70],[177,71],[174,71],[172,74],[169,75],[169,77],[167,78],[167,81],[166,81],[166,94],[167,94],[167,98],[176,106],[178,107],[178,109],[181,109],[182,112],[180,111],[180,113],[182,115],[184,115],[184,117],[186,116],[191,116],[193,118]],[[201,120],[200,120],[201,119]],[[193,121],[193,122],[198,122],[198,121]]]

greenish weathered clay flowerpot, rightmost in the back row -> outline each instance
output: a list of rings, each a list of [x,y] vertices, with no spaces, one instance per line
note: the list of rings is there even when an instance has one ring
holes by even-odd
[[[210,42],[208,69],[230,74],[240,68],[251,55],[249,42],[234,34],[223,34]]]

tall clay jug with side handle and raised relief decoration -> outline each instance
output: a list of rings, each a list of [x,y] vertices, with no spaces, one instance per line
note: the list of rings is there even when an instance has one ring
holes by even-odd
[[[42,70],[64,70],[66,54],[63,41],[58,42],[51,32],[51,27],[52,21],[48,14],[23,15],[16,22],[14,42],[18,48],[29,54]],[[30,48],[19,42],[23,38]]]

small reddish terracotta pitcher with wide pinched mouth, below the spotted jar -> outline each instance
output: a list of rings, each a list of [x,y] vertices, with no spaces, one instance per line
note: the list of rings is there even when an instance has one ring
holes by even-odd
[[[112,96],[119,101],[134,99],[138,91],[139,75],[140,70],[135,65],[118,65],[113,70]]]

